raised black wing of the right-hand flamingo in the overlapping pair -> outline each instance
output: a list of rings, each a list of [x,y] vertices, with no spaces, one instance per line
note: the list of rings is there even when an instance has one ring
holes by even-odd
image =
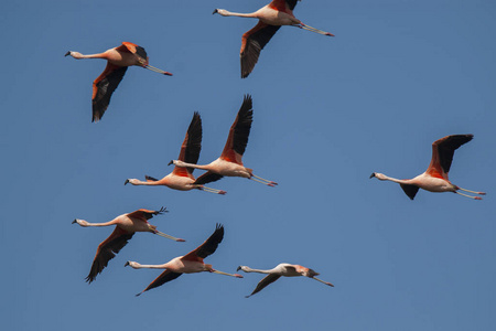
[[[251,96],[246,95],[242,100],[241,108],[239,109],[238,115],[230,127],[226,146],[220,154],[222,159],[242,164],[241,157],[245,153],[246,146],[248,145],[248,137],[250,135],[252,121],[254,109]]]

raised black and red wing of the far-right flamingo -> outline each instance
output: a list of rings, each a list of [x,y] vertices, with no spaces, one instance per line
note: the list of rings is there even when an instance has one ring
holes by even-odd
[[[435,140],[432,143],[432,159],[427,172],[448,180],[454,151],[473,138],[474,135],[452,135]]]

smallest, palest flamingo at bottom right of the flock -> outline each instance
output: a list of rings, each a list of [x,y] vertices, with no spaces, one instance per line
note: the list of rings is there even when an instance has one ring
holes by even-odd
[[[320,282],[323,282],[327,286],[334,287],[331,282],[324,281],[322,279],[316,278],[315,276],[319,276],[319,273],[315,273],[313,269],[305,268],[303,266],[299,265],[290,265],[290,264],[279,264],[273,269],[269,270],[260,270],[260,269],[251,269],[247,266],[239,266],[238,271],[242,270],[245,273],[259,273],[259,274],[268,274],[262,280],[260,280],[255,288],[255,290],[251,292],[251,295],[246,296],[245,298],[249,298],[255,293],[258,293],[262,289],[265,289],[268,285],[278,280],[281,276],[284,277],[296,277],[296,276],[305,276],[312,279],[315,279]]]

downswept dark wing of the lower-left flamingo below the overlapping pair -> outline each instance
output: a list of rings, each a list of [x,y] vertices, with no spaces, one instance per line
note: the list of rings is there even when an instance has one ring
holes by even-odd
[[[86,281],[89,284],[94,281],[98,274],[100,274],[108,265],[108,261],[111,260],[116,254],[118,254],[120,249],[128,244],[133,235],[133,232],[129,233],[116,226],[116,229],[114,229],[110,236],[98,245],[98,249],[93,260],[91,269],[86,277]]]

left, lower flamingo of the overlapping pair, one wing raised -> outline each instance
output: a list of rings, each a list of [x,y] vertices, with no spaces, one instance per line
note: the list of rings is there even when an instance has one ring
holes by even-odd
[[[187,128],[186,137],[184,138],[183,145],[181,146],[181,152],[179,160],[196,163],[198,161],[200,151],[202,150],[202,118],[198,113],[193,115],[190,127]],[[226,191],[206,188],[204,185],[194,184],[195,178],[193,175],[194,168],[181,168],[175,167],[174,170],[161,180],[154,179],[152,177],[145,175],[145,182],[137,179],[127,179],[127,183],[132,185],[165,185],[168,188],[190,191],[193,189],[202,190],[205,192],[226,194]]]

